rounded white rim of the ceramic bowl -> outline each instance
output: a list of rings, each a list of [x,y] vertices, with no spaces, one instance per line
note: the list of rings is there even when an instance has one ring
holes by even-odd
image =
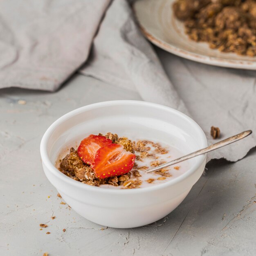
[[[136,193],[146,193],[148,191],[155,191],[155,190],[159,190],[159,189],[164,189],[168,186],[173,186],[179,182],[182,182],[183,180],[185,180],[186,178],[188,178],[190,175],[192,175],[196,170],[198,170],[198,168],[201,166],[201,164],[204,162],[204,160],[206,159],[206,155],[199,155],[196,157],[196,164],[194,164],[193,166],[191,166],[191,168],[189,168],[189,170],[187,170],[185,173],[183,173],[182,175],[174,178],[173,180],[169,180],[167,182],[164,182],[162,184],[156,184],[155,186],[149,186],[149,187],[145,187],[145,188],[137,188],[137,189],[108,189],[108,188],[103,188],[103,187],[97,187],[97,186],[90,186],[88,184],[84,184],[81,183],[79,181],[73,180],[70,177],[67,177],[65,174],[61,173],[55,166],[54,164],[52,164],[52,162],[49,159],[49,156],[47,154],[47,143],[49,140],[49,137],[52,135],[52,132],[54,131],[54,129],[61,125],[61,123],[63,123],[64,121],[70,119],[71,117],[73,117],[74,115],[80,114],[82,112],[85,111],[90,111],[92,109],[95,108],[103,108],[106,106],[117,106],[120,104],[126,104],[126,105],[131,105],[131,104],[135,104],[137,106],[150,106],[153,108],[159,108],[162,110],[168,110],[170,112],[173,112],[177,115],[180,115],[181,117],[183,117],[184,119],[186,119],[187,121],[189,121],[191,123],[191,125],[195,126],[199,132],[200,132],[200,137],[202,139],[203,142],[203,147],[207,147],[207,138],[202,130],[202,128],[189,116],[185,115],[184,113],[180,112],[179,110],[175,110],[174,108],[168,107],[168,106],[164,106],[161,104],[157,104],[157,103],[151,103],[148,101],[137,101],[137,100],[114,100],[114,101],[102,101],[102,102],[98,102],[98,103],[93,103],[93,104],[89,104],[80,108],[76,108],[75,110],[72,110],[70,112],[68,112],[67,114],[59,117],[56,121],[54,121],[49,128],[45,131],[42,139],[41,139],[41,143],[40,143],[40,155],[41,155],[41,160],[42,163],[45,165],[45,167],[56,177],[58,177],[59,179],[61,179],[63,182],[67,182],[68,184],[70,184],[71,186],[76,186],[80,189],[84,189],[84,190],[88,190],[91,192],[96,192],[96,193],[108,193],[108,194],[136,194]]]

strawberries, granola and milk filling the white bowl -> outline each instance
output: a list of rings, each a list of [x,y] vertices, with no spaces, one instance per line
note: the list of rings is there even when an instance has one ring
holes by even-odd
[[[108,132],[89,135],[75,150],[59,157],[56,167],[68,177],[91,186],[134,189],[166,182],[184,173],[187,163],[145,171],[164,164],[181,153],[149,140],[132,141]]]

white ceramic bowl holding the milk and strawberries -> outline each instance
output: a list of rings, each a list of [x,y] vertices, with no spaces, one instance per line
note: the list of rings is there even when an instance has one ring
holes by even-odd
[[[84,218],[103,226],[131,228],[155,222],[184,200],[202,175],[206,156],[189,160],[191,168],[168,182],[138,189],[94,187],[67,177],[55,167],[63,148],[76,146],[89,134],[162,141],[184,154],[207,146],[204,132],[190,117],[145,101],[106,101],[73,110],[55,121],[40,144],[43,170],[67,204]]]

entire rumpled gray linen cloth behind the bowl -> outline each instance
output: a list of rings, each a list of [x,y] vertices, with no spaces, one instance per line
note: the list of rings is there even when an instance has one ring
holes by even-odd
[[[81,74],[190,115],[209,144],[218,141],[209,134],[212,125],[220,128],[220,139],[256,131],[255,72],[165,58],[158,49],[157,55],[125,0],[5,0],[0,31],[0,88],[54,91],[85,63]],[[209,153],[207,160],[237,161],[254,146],[251,135]]]

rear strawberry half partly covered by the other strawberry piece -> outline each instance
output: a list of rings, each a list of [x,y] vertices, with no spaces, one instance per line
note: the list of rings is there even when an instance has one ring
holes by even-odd
[[[83,139],[77,149],[77,154],[86,164],[94,162],[97,150],[103,146],[112,143],[111,139],[107,139],[100,135],[89,135]]]

